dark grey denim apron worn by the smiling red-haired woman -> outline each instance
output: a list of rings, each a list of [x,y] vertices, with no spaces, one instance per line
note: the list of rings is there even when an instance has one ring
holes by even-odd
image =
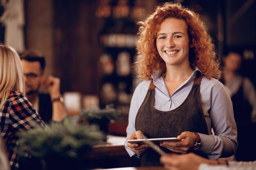
[[[170,111],[160,111],[154,107],[155,85],[150,82],[146,97],[141,104],[136,119],[135,129],[148,138],[177,137],[184,131],[209,134],[202,111],[200,99],[200,83],[202,76],[197,73],[193,86],[185,101],[177,108]],[[161,147],[165,152],[170,150]],[[199,152],[198,155],[204,156]],[[160,156],[148,148],[141,154],[141,166],[160,166]]]

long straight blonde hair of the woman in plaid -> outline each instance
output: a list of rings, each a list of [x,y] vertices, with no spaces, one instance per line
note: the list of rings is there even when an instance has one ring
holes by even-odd
[[[0,44],[0,108],[10,91],[25,94],[23,71],[18,53],[12,47]]]

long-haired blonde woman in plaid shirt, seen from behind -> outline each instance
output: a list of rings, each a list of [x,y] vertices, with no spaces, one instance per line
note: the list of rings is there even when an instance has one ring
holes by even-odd
[[[46,127],[25,94],[19,55],[0,45],[0,129],[11,170],[18,170],[18,136],[16,132],[35,126]]]

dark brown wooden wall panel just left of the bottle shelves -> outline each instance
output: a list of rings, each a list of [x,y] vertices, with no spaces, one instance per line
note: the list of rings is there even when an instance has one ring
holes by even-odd
[[[54,0],[55,69],[62,91],[98,94],[97,1]]]

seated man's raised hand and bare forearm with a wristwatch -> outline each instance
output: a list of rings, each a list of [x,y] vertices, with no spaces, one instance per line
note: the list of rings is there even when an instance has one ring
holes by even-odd
[[[52,102],[52,120],[62,121],[67,115],[67,110],[59,99],[61,97],[60,86],[61,80],[52,75],[48,76],[43,84],[51,96]]]

